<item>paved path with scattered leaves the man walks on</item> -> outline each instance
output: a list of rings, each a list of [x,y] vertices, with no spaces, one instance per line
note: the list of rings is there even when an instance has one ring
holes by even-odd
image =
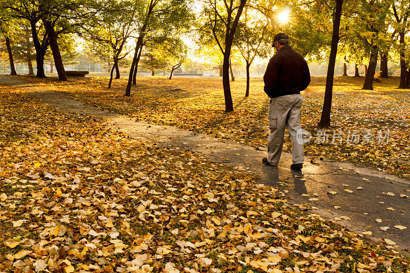
[[[136,122],[10,76],[0,76],[2,83],[30,92],[33,97],[63,112],[104,118],[110,128],[132,137],[153,139],[169,149],[192,150],[213,162],[239,167],[238,171],[253,172],[260,177],[261,183],[277,185],[292,199],[289,203],[303,205],[305,202],[311,207],[311,213],[345,225],[359,234],[371,231],[373,236],[365,237],[375,243],[388,238],[395,241],[401,251],[410,249],[410,198],[400,197],[410,196],[410,180],[326,158],[318,164],[305,162],[302,172],[293,172],[289,168],[292,158],[288,153],[282,153],[278,168],[265,166],[261,158],[266,156],[266,151],[256,151],[248,145],[175,127]],[[395,225],[407,228],[400,230]],[[386,226],[389,227],[386,231],[380,229]]]

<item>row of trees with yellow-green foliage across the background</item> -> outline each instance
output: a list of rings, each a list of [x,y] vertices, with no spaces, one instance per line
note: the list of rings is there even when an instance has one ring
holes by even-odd
[[[182,40],[189,36],[199,45],[198,52],[220,60],[225,110],[233,111],[232,53],[242,56],[247,67],[248,96],[249,67],[255,58],[268,57],[278,31],[286,32],[293,48],[306,59],[329,64],[322,126],[330,125],[337,59],[355,64],[357,75],[358,66],[365,64],[363,89],[371,90],[378,57],[381,76],[387,77],[387,60],[396,55],[400,58],[399,88],[409,88],[410,83],[410,0],[0,0],[0,7],[0,30],[10,64],[9,37],[25,28],[31,33],[27,41],[35,49],[37,76],[45,76],[43,65],[50,48],[58,77],[66,80],[61,51],[70,52],[75,37],[80,37],[94,51],[110,56],[109,88],[114,71],[119,78],[118,62],[132,57],[126,96],[136,84],[141,57],[160,64],[160,56],[167,56],[174,62],[173,72],[187,57]],[[291,11],[288,22],[278,18],[285,9]]]

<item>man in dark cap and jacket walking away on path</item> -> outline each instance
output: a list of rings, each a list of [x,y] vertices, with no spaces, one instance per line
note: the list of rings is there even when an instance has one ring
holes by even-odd
[[[303,166],[300,127],[300,107],[303,99],[300,91],[309,86],[311,75],[305,59],[289,46],[288,35],[276,34],[272,47],[275,47],[277,52],[269,60],[263,76],[264,91],[271,98],[268,110],[271,133],[268,138],[268,158],[263,158],[262,162],[265,165],[278,165],[286,125],[292,139],[291,169],[299,171]]]

